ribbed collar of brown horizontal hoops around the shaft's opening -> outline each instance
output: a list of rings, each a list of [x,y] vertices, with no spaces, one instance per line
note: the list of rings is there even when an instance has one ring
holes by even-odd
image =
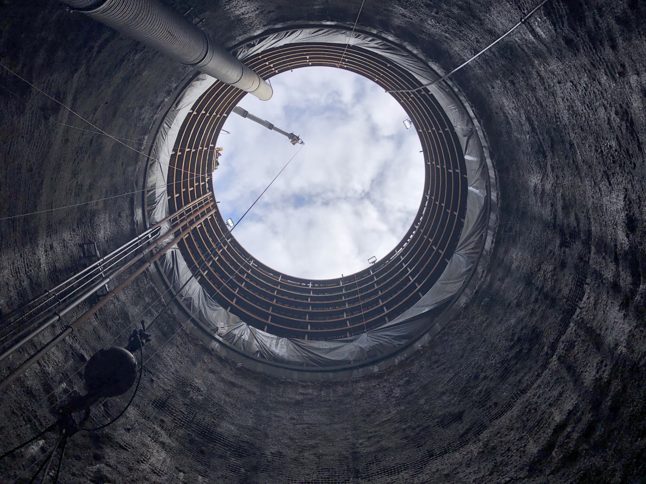
[[[349,70],[384,90],[421,86],[385,57],[357,46],[288,44],[245,59],[264,79],[307,66]],[[169,210],[213,190],[213,151],[227,116],[245,93],[216,81],[196,101],[176,138],[168,171]],[[425,162],[424,195],[412,226],[389,254],[339,279],[282,274],[253,258],[220,212],[178,244],[192,266],[205,265],[200,283],[222,307],[277,336],[330,340],[360,334],[397,318],[430,290],[446,268],[464,223],[468,190],[464,154],[455,128],[427,90],[393,94],[417,130]],[[210,148],[210,149],[209,149]],[[217,194],[215,194],[217,196]],[[222,237],[215,257],[209,249]]]

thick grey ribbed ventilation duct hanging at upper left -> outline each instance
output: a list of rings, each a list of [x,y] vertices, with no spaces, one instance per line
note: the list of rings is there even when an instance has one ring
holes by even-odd
[[[273,91],[249,67],[159,0],[61,0],[122,34],[267,101]]]

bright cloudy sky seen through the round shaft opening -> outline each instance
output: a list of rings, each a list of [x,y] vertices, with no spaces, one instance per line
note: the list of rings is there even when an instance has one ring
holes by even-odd
[[[231,113],[213,176],[222,216],[237,222],[296,154],[234,237],[291,276],[333,279],[368,267],[406,234],[422,199],[424,158],[415,130],[404,127],[406,112],[373,81],[342,69],[298,68],[271,85],[269,101],[247,94],[239,106],[305,145]]]

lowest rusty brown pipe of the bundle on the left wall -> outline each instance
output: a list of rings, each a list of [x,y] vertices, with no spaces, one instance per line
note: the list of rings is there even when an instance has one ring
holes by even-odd
[[[207,210],[206,214],[204,214],[202,217],[199,217],[198,219],[193,221],[193,223],[191,225],[189,225],[189,227],[185,228],[182,232],[180,232],[180,234],[178,235],[178,238],[176,240],[180,241],[181,239],[186,237],[188,234],[191,233],[191,230],[193,230],[193,228],[195,228],[197,225],[200,225],[200,223],[202,223],[205,219],[207,219],[208,217],[213,215],[215,211],[216,211],[216,208],[212,208],[211,210]],[[176,229],[174,229],[174,230],[176,230]],[[156,244],[158,244],[158,243],[156,243]],[[117,287],[112,289],[112,291],[110,291],[108,294],[103,296],[98,303],[96,303],[89,310],[87,310],[80,318],[76,319],[76,321],[74,321],[74,323],[72,323],[71,325],[65,327],[64,330],[62,330],[59,334],[54,336],[54,338],[52,338],[47,343],[47,345],[45,345],[44,347],[41,347],[36,353],[34,353],[32,356],[30,356],[25,361],[23,361],[23,363],[21,363],[21,365],[19,365],[19,367],[17,367],[10,374],[8,374],[6,376],[6,378],[3,379],[3,381],[0,381],[0,392],[2,390],[4,390],[12,381],[14,381],[16,378],[21,376],[28,368],[30,368],[32,365],[34,365],[34,363],[36,363],[39,359],[43,358],[43,356],[45,356],[45,354],[47,354],[49,352],[49,350],[54,348],[60,341],[63,341],[63,339],[65,339],[65,337],[68,336],[68,334],[70,334],[72,331],[74,331],[74,330],[78,329],[79,327],[81,327],[81,325],[83,325],[83,323],[85,323],[85,321],[90,319],[94,315],[94,313],[96,313],[101,307],[103,307],[105,305],[105,303],[110,301],[110,299],[112,299],[112,297],[116,296],[116,294],[118,294],[118,292],[120,292],[124,287],[129,285],[135,279],[135,277],[139,276],[144,270],[151,267],[151,265],[154,262],[156,262],[161,256],[163,256],[163,254],[165,254],[166,252],[171,250],[171,248],[174,247],[174,245],[176,245],[176,244],[175,243],[169,243],[166,247],[164,247],[159,252],[157,252],[157,254],[155,254],[153,257],[151,257],[151,259],[149,259],[143,265],[141,265],[140,268],[138,268],[136,271],[134,271],[132,274],[130,274],[130,276],[127,279],[125,279],[125,281],[123,281],[120,285],[118,285]],[[143,256],[143,252],[141,253],[141,255]]]

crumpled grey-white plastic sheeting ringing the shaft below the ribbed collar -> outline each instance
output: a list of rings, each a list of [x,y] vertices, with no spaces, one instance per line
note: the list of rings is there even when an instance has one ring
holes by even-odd
[[[293,43],[335,43],[360,46],[411,72],[421,83],[438,79],[428,66],[410,54],[369,35],[334,28],[305,28],[278,32],[234,50],[240,60],[269,48]],[[214,82],[200,74],[187,86],[165,117],[153,143],[153,158],[147,170],[147,187],[155,188],[147,196],[149,223],[154,224],[168,213],[166,178],[171,150],[187,113],[194,102]],[[387,356],[413,341],[424,332],[438,332],[448,321],[429,313],[459,296],[474,272],[488,227],[488,166],[474,123],[452,90],[444,83],[428,88],[437,98],[460,139],[466,161],[468,194],[466,215],[457,248],[435,285],[412,308],[390,323],[367,333],[334,341],[306,341],[281,338],[247,325],[216,303],[196,281],[178,248],[172,248],[160,261],[161,268],[176,292],[182,289],[183,305],[205,328],[208,328],[240,352],[256,358],[298,367],[339,367],[357,365]]]

